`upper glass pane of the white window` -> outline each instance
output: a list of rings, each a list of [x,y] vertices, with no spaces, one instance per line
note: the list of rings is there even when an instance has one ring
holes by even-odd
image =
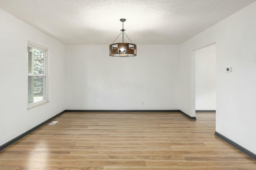
[[[44,74],[44,51],[28,47],[28,74]]]

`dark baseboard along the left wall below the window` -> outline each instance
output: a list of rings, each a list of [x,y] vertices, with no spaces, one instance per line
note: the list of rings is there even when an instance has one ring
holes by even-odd
[[[65,110],[56,114],[55,116],[51,117],[50,119],[47,119],[46,121],[40,123],[39,125],[33,127],[32,129],[29,129],[28,131],[26,131],[25,133],[22,133],[21,135],[19,135],[18,137],[8,141],[7,143],[5,143],[4,145],[0,146],[0,151],[4,150],[5,148],[7,148],[8,146],[12,145],[13,143],[19,141],[20,139],[22,139],[23,137],[25,137],[26,135],[30,134],[31,132],[33,132],[34,130],[38,129],[39,127],[41,127],[42,125],[44,125],[45,123],[47,123],[48,121],[51,121],[52,119],[58,117],[59,115],[61,115],[62,113],[66,112]]]

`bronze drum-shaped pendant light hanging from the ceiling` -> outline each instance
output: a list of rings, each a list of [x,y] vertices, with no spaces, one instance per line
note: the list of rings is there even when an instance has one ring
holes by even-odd
[[[137,46],[136,44],[132,43],[132,41],[129,39],[129,37],[124,32],[124,22],[126,19],[120,19],[120,21],[123,23],[123,28],[120,29],[121,33],[118,35],[118,37],[122,34],[122,43],[114,43],[118,37],[113,41],[112,44],[109,45],[109,55],[113,57],[133,57],[137,55]],[[124,43],[124,35],[130,40],[131,43]]]

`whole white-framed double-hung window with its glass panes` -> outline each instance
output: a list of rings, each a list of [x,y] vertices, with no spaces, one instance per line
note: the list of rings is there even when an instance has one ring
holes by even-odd
[[[28,108],[48,102],[47,50],[28,42]]]

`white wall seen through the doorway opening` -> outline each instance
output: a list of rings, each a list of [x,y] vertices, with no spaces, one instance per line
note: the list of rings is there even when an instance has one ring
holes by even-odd
[[[196,110],[216,110],[216,45],[195,51]]]

